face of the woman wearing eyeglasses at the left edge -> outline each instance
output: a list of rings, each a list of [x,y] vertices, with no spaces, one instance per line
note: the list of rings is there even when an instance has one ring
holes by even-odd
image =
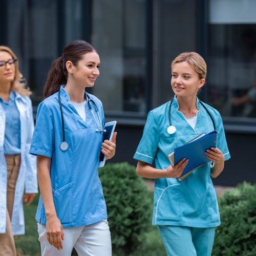
[[[8,61],[13,59],[11,54],[6,51],[0,51],[0,61]],[[0,83],[2,82],[12,82],[15,77],[15,65],[6,63],[0,67]]]

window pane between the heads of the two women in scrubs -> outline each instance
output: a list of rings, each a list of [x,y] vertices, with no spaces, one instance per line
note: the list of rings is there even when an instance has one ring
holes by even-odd
[[[144,114],[146,1],[98,0],[92,4],[92,45],[101,59],[101,75],[93,93],[107,113]]]

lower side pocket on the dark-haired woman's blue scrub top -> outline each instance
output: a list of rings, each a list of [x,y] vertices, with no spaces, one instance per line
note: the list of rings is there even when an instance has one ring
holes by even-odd
[[[59,188],[57,191],[52,189],[53,201],[56,214],[61,223],[73,222],[72,215],[72,182]]]

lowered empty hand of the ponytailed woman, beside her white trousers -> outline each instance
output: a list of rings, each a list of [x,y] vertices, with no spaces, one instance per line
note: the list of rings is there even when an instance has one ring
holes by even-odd
[[[46,220],[46,233],[48,242],[58,250],[63,249],[61,239],[64,240],[64,232],[56,215],[48,216]]]

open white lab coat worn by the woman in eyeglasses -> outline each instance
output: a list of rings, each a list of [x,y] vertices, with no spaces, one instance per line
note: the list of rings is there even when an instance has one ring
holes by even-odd
[[[15,103],[20,118],[20,147],[21,163],[15,187],[15,196],[12,211],[13,234],[25,233],[23,212],[23,195],[37,193],[36,157],[29,154],[30,143],[34,131],[32,103],[29,97],[15,93]],[[6,113],[0,104],[0,233],[6,232],[7,211],[7,166],[4,155]]]

